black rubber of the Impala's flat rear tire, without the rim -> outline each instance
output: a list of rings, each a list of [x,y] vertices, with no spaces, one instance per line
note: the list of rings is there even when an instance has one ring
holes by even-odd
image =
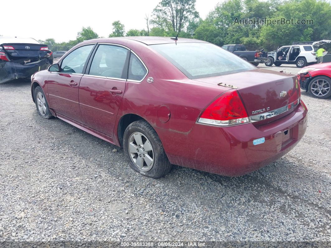
[[[132,161],[132,158],[130,156],[129,138],[131,134],[133,134],[134,132],[140,132],[144,136],[146,136],[146,138],[148,138],[153,148],[153,152],[154,152],[153,166],[152,169],[150,169],[149,171],[140,170]],[[153,127],[150,124],[148,124],[145,120],[135,121],[130,125],[128,125],[128,127],[125,129],[123,135],[123,150],[126,161],[129,163],[130,167],[144,176],[157,179],[166,175],[171,170],[172,165],[170,164],[166,156],[166,153],[164,151],[163,145],[161,143],[158,134],[155,132]]]

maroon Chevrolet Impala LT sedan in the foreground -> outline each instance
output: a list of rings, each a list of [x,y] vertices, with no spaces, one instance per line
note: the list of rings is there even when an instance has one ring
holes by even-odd
[[[153,178],[172,164],[253,172],[290,151],[307,126],[296,76],[201,40],[88,40],[31,82],[41,117],[123,147],[131,168]]]

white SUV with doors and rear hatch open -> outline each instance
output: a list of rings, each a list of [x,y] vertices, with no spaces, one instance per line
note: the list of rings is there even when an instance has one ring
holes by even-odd
[[[295,64],[302,68],[309,63],[316,62],[315,52],[318,47],[331,40],[320,40],[315,42],[293,42],[290,46],[282,46],[275,52],[268,53],[268,59],[264,63],[266,66],[280,66],[282,64]]]

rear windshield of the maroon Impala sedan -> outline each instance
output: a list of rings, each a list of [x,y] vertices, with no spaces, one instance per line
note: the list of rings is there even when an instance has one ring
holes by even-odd
[[[190,79],[256,69],[250,63],[211,43],[151,45]]]

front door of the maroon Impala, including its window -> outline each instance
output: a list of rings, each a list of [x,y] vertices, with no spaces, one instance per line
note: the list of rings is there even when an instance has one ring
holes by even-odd
[[[50,72],[47,83],[50,108],[71,120],[82,123],[78,102],[78,87],[86,61],[95,44],[71,51],[60,63],[59,72]]]

